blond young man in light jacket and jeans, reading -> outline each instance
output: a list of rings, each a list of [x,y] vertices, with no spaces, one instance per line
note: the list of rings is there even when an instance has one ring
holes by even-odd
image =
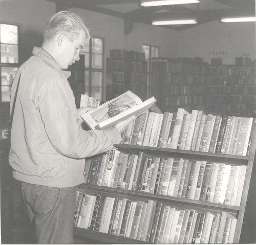
[[[38,243],[74,243],[75,186],[84,182],[84,158],[120,143],[120,133],[135,118],[106,130],[84,131],[75,99],[62,71],[79,60],[90,38],[82,19],[61,11],[49,20],[41,48],[20,66],[13,84],[9,162],[22,182],[22,195]]]

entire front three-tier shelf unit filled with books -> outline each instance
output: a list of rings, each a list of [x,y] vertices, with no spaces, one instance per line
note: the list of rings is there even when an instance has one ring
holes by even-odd
[[[255,119],[146,111],[87,159],[74,234],[102,243],[239,243]]]

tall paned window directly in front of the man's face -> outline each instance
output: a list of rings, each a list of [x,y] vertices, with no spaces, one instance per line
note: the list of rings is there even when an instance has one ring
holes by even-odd
[[[103,100],[103,39],[92,37],[80,52],[84,55],[85,93]]]

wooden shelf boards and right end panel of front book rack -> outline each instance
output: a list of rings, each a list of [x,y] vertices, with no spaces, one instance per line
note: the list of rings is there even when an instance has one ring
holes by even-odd
[[[241,203],[239,207],[225,205],[225,204],[218,204],[218,203],[195,201],[192,199],[178,198],[173,196],[149,194],[149,193],[144,193],[139,191],[94,186],[94,185],[88,185],[88,184],[80,185],[77,190],[80,190],[82,192],[86,192],[89,194],[96,193],[96,192],[103,192],[113,197],[116,197],[116,196],[127,197],[127,198],[134,199],[135,201],[140,199],[141,200],[153,199],[155,201],[160,201],[165,204],[175,206],[177,208],[196,209],[199,211],[208,210],[212,212],[227,212],[237,218],[237,225],[236,225],[236,230],[234,232],[233,243],[239,243],[244,214],[245,214],[248,190],[250,185],[250,179],[252,174],[252,167],[255,161],[255,148],[256,148],[255,136],[256,136],[256,127],[253,128],[250,151],[249,151],[249,154],[247,154],[247,156],[189,151],[189,150],[178,150],[178,149],[169,149],[169,148],[157,148],[157,147],[138,146],[138,145],[126,145],[126,144],[115,145],[115,147],[119,151],[129,153],[129,154],[138,154],[140,151],[143,151],[155,157],[172,157],[172,158],[183,158],[183,159],[189,159],[189,160],[219,162],[219,163],[232,164],[232,165],[246,165],[247,170],[245,174],[245,182],[244,182],[244,187],[242,192]],[[99,243],[151,243],[151,242],[144,242],[141,240],[135,240],[135,239],[126,238],[126,237],[101,233],[101,232],[92,231],[88,229],[81,229],[78,227],[74,227],[73,234],[79,237],[97,240]]]

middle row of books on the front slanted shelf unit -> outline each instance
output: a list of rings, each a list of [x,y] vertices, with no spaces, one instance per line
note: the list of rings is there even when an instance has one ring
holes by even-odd
[[[240,206],[247,166],[125,154],[116,149],[87,159],[90,185]]]

